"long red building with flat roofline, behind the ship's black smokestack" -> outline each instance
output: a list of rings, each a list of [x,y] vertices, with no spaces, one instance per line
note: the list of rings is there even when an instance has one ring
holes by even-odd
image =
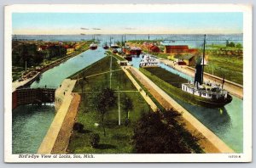
[[[198,49],[189,48],[188,45],[166,45],[164,53],[196,53]]]

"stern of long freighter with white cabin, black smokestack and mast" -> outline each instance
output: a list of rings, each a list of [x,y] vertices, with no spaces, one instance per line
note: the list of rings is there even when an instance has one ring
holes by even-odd
[[[210,108],[220,108],[225,104],[230,104],[232,97],[229,92],[223,89],[224,78],[222,86],[220,84],[213,84],[210,82],[203,82],[204,74],[204,60],[205,60],[205,45],[206,35],[204,36],[204,48],[202,64],[199,61],[195,66],[195,80],[189,83],[182,84],[183,98],[189,99],[189,102],[206,106]]]

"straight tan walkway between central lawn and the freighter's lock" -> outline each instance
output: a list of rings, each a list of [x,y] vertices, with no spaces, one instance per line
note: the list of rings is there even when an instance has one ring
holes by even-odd
[[[173,108],[183,114],[182,122],[185,123],[188,131],[195,136],[204,137],[201,138],[199,143],[206,153],[235,153],[206,126],[201,124],[199,120],[195,119],[193,115],[190,115],[186,109],[177,104],[166,92],[156,86],[153,81],[150,81],[147,76],[144,76],[141,71],[134,67],[131,67],[130,70],[165,109]]]

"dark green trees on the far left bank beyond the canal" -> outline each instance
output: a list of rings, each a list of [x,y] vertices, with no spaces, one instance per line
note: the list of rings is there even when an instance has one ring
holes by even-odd
[[[12,49],[12,64],[14,66],[31,67],[38,65],[44,59],[61,58],[65,56],[67,49],[63,46],[49,46],[43,51],[38,51],[36,44],[23,43]]]

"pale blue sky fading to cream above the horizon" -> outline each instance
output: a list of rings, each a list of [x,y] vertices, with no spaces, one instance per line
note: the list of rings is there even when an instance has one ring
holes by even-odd
[[[242,13],[14,13],[13,34],[242,33]],[[81,30],[81,27],[89,30]],[[93,30],[99,28],[101,30]]]

